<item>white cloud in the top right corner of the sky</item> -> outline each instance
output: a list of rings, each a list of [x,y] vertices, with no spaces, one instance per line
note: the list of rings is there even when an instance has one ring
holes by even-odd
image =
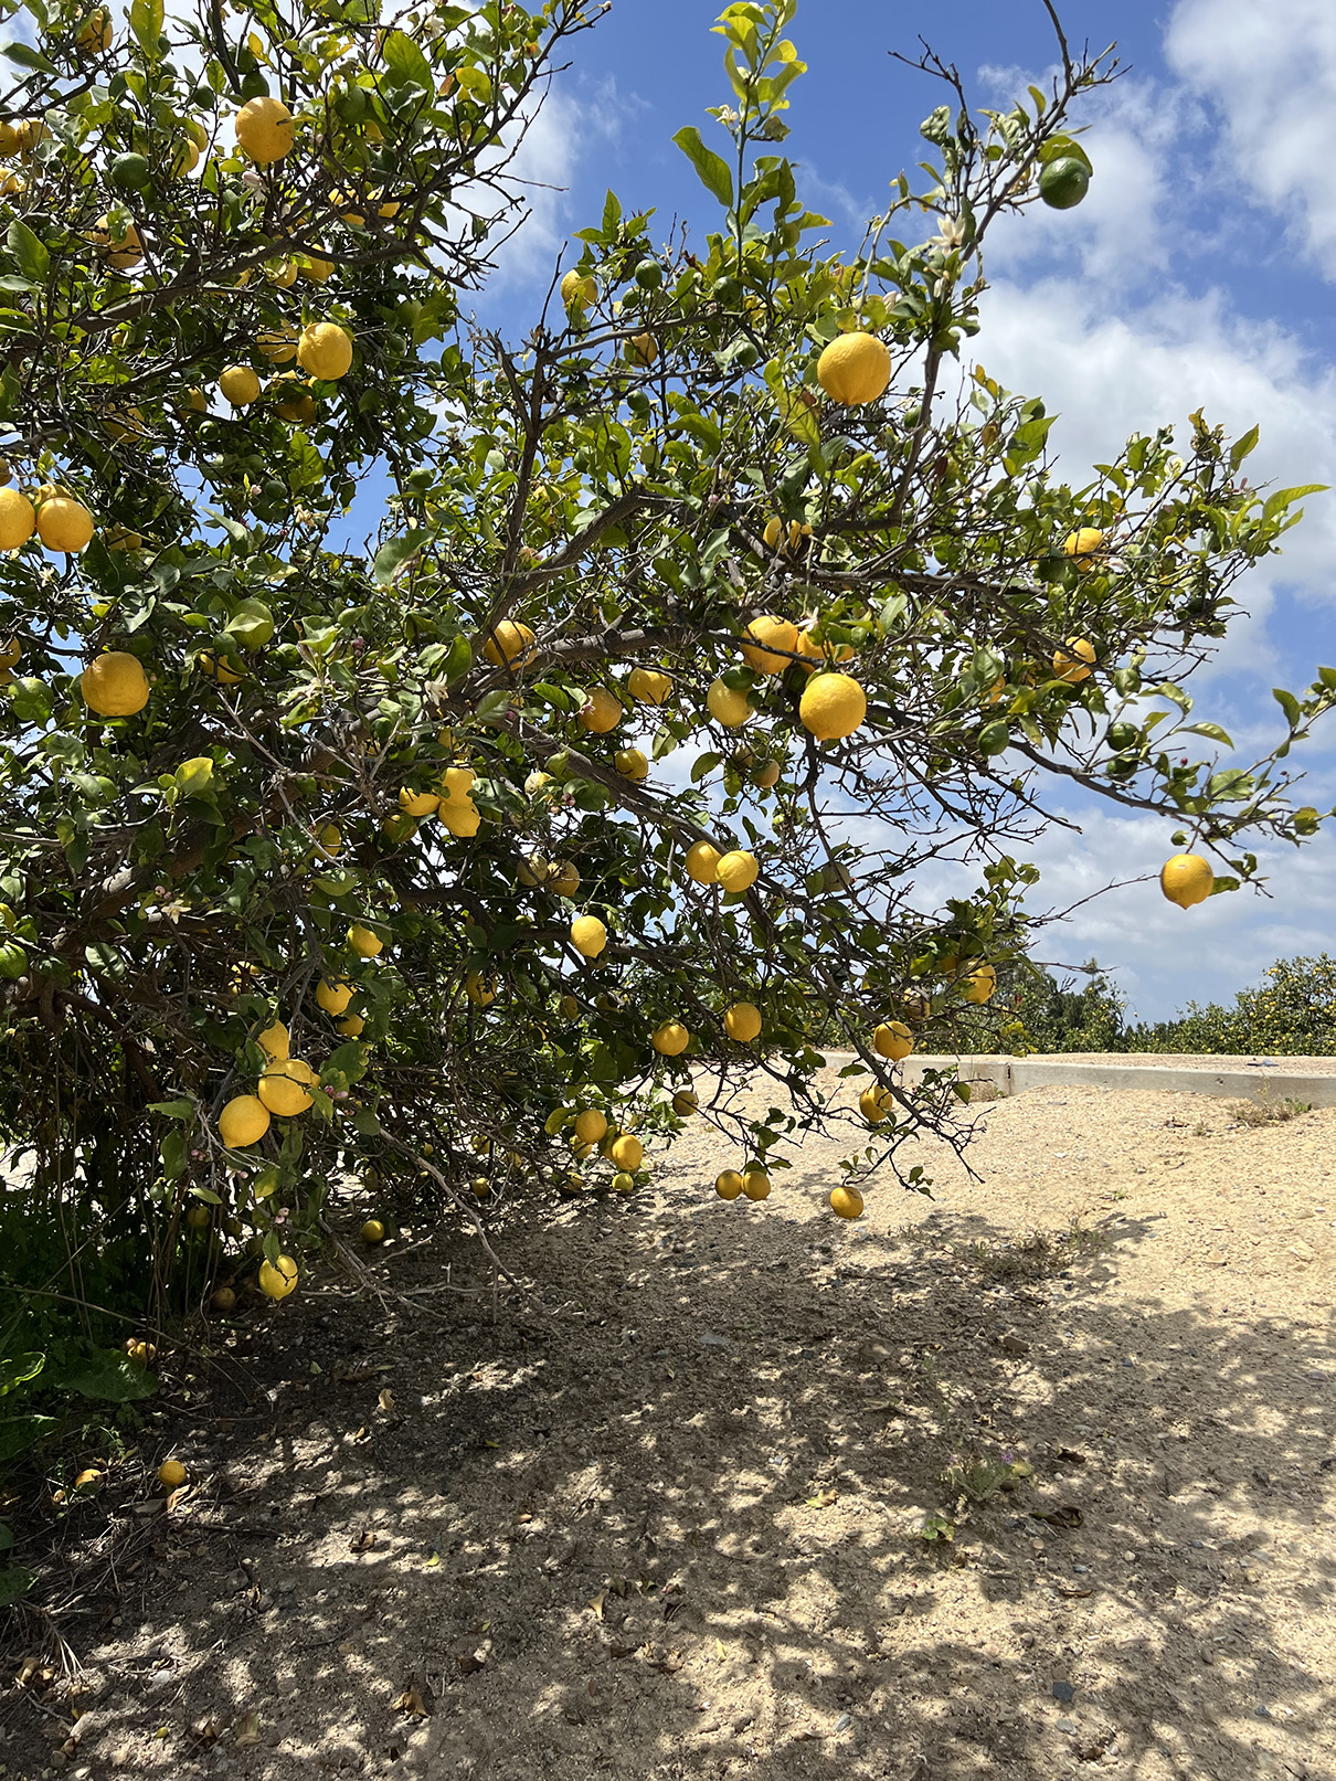
[[[1336,278],[1331,0],[1179,0],[1165,53],[1217,105],[1234,178],[1283,217],[1291,212],[1304,249]]]

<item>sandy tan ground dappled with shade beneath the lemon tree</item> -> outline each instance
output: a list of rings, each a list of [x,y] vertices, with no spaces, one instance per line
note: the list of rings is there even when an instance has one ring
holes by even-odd
[[[973,1117],[857,1224],[697,1124],[522,1288],[401,1232],[210,1325],[45,1510],[0,1774],[1331,1781],[1336,1110]]]

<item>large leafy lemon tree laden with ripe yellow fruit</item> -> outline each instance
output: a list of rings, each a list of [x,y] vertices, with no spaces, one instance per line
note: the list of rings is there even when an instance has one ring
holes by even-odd
[[[955,1133],[905,1060],[1005,1029],[1055,800],[1161,816],[1185,905],[1320,823],[1284,757],[1336,673],[1247,764],[1183,686],[1306,492],[1204,415],[1072,486],[974,358],[989,228],[1081,199],[1106,66],[955,93],[839,253],[793,14],[721,14],[688,249],[609,194],[515,344],[461,292],[595,9],[61,4],[9,46],[0,1124],[32,1206],[200,1302],[290,1293],[349,1181],[363,1231],[479,1222],[634,1191],[684,1120],[757,1202],[843,1127],[857,1216]]]

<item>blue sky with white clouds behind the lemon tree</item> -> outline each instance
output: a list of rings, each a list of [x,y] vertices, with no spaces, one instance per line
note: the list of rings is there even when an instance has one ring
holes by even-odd
[[[718,132],[705,116],[727,98],[723,45],[709,32],[718,11],[714,0],[615,0],[575,41],[525,144],[525,171],[543,187],[479,303],[488,322],[513,333],[531,324],[570,230],[597,221],[607,185],[627,208],[656,207],[657,239],[675,216],[702,233],[713,224],[670,139],[684,123],[707,141]],[[1204,404],[1236,433],[1259,422],[1256,479],[1336,484],[1336,7],[1069,0],[1062,14],[1072,45],[1117,39],[1128,73],[1085,114],[1096,164],[1087,203],[1031,210],[994,242],[976,360],[1062,415],[1053,443],[1074,481],[1128,433],[1185,426]],[[919,32],[989,105],[1055,59],[1040,0],[803,0],[791,34],[809,73],[793,89],[786,153],[837,244],[855,240],[887,182],[926,155],[917,125],[939,89],[887,53],[916,53]],[[1302,687],[1318,663],[1336,663],[1334,554],[1336,493],[1311,497],[1284,556],[1243,584],[1250,616],[1193,680],[1197,716],[1224,723],[1240,750],[1274,734],[1272,686]],[[1336,723],[1299,764],[1304,800],[1331,807]],[[1035,850],[1039,907],[1069,907],[1172,851],[1169,823],[1108,805],[1067,810],[1083,835]],[[1267,862],[1270,898],[1242,892],[1185,914],[1140,883],[1055,924],[1040,953],[1096,953],[1147,1019],[1190,997],[1229,999],[1272,958],[1331,946],[1331,841]]]

